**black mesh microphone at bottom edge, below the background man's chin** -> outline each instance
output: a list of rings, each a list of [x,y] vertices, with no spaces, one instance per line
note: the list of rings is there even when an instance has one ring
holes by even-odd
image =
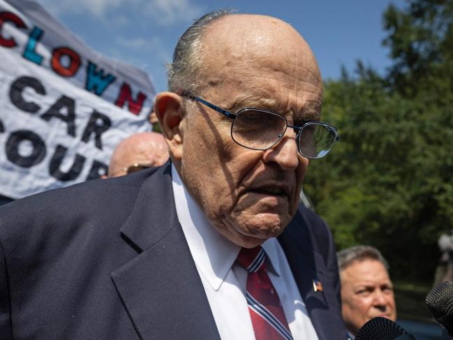
[[[409,334],[403,327],[394,323],[392,320],[382,318],[372,318],[362,327],[355,340],[416,340],[412,334]]]

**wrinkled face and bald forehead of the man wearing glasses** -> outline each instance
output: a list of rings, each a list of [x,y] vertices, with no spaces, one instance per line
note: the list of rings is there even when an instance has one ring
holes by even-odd
[[[209,30],[200,97],[230,112],[272,110],[288,124],[319,119],[318,66],[288,24],[233,15]],[[180,174],[209,221],[239,246],[279,235],[297,211],[309,165],[297,151],[294,131],[288,128],[271,149],[246,149],[231,138],[232,119],[190,99],[184,103]]]

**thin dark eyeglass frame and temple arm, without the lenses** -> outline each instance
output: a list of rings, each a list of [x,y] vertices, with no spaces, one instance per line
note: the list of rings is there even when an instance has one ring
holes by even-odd
[[[271,147],[274,147],[275,145],[277,145],[281,138],[283,138],[283,135],[285,135],[286,133],[286,130],[288,128],[292,128],[295,130],[295,135],[296,135],[296,142],[297,142],[297,150],[299,151],[299,154],[301,154],[302,156],[304,156],[305,158],[310,158],[310,159],[318,159],[318,158],[322,158],[324,157],[326,154],[329,153],[330,149],[332,149],[332,147],[334,146],[335,142],[337,140],[340,139],[340,136],[339,136],[339,133],[338,131],[336,130],[336,127],[335,126],[332,126],[330,124],[327,124],[327,123],[322,123],[320,121],[304,121],[304,124],[302,124],[302,126],[296,126],[296,125],[290,125],[288,124],[288,119],[286,119],[286,117],[282,116],[281,114],[278,114],[274,111],[270,111],[270,110],[265,110],[265,109],[260,109],[260,108],[243,108],[241,110],[239,110],[237,113],[232,113],[232,112],[229,112],[228,110],[225,110],[217,105],[214,105],[212,103],[209,103],[208,101],[205,101],[205,99],[203,98],[200,98],[198,96],[192,96],[191,94],[185,94],[183,93],[181,95],[182,97],[186,97],[186,98],[189,98],[189,99],[192,99],[193,101],[198,101],[200,103],[202,103],[203,105],[206,105],[208,108],[211,108],[212,110],[215,110],[216,112],[219,112],[220,114],[222,114],[224,117],[227,117],[229,119],[233,119],[233,121],[236,119],[237,115],[240,114],[241,112],[245,111],[245,110],[254,110],[254,111],[258,111],[258,112],[265,112],[267,114],[274,114],[275,116],[279,116],[280,118],[283,118],[285,119],[285,122],[286,122],[286,127],[285,127],[285,130],[279,135],[279,140],[277,140],[273,145],[269,146],[269,147],[266,147],[266,148],[262,148],[262,149],[257,149],[257,148],[254,148],[254,147],[248,147],[246,145],[242,145],[241,143],[237,142],[237,140],[235,140],[235,138],[233,137],[233,134],[232,134],[232,127],[233,127],[233,124],[231,126],[231,131],[230,131],[230,135],[231,135],[231,138],[232,140],[234,140],[235,142],[237,142],[237,144],[241,145],[242,147],[246,147],[247,149],[252,149],[252,150],[267,150],[267,149],[270,149]],[[325,126],[326,128],[328,128],[329,130],[333,131],[334,134],[335,134],[335,140],[334,142],[332,143],[331,147],[329,148],[329,150],[325,153],[325,154],[322,154],[321,156],[317,156],[317,157],[313,157],[313,156],[306,156],[302,151],[301,151],[301,147],[300,147],[300,141],[299,141],[299,137],[301,135],[301,132],[302,130],[306,127],[306,126],[309,126],[309,125],[320,125],[320,126]],[[297,131],[297,132],[296,132]]]

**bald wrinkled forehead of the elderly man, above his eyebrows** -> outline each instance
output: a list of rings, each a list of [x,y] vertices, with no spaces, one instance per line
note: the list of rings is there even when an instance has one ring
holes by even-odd
[[[322,98],[309,45],[290,24],[274,17],[222,17],[207,28],[200,52],[201,88],[253,89],[257,77],[272,77],[276,89],[303,88]]]

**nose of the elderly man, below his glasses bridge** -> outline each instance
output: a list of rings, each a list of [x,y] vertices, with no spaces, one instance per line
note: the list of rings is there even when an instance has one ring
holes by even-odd
[[[299,165],[299,151],[296,135],[288,128],[279,142],[267,149],[263,155],[264,161],[274,162],[280,165],[282,170],[292,171]]]

